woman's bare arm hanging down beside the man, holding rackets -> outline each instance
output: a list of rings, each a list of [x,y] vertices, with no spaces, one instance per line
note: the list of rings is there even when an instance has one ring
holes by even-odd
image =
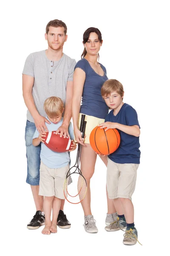
[[[73,99],[72,117],[74,125],[74,135],[78,143],[83,145],[81,133],[78,128],[79,110],[82,99],[82,92],[85,83],[85,72],[81,68],[76,68],[73,76]]]

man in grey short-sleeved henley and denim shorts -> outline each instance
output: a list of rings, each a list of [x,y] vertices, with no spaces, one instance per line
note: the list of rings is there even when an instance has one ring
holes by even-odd
[[[42,209],[43,196],[39,193],[40,180],[40,146],[32,145],[32,137],[37,130],[48,131],[45,122],[43,104],[50,96],[58,96],[65,104],[65,113],[60,137],[69,136],[68,125],[71,119],[71,102],[73,96],[73,73],[76,61],[63,53],[63,45],[67,41],[67,26],[61,20],[51,20],[46,26],[45,40],[48,49],[28,55],[23,70],[23,98],[28,108],[26,123],[26,157],[27,179],[31,185],[35,206],[34,218],[27,225],[28,229],[37,229],[45,223]],[[57,223],[61,228],[71,227],[63,212],[65,200],[62,200]]]

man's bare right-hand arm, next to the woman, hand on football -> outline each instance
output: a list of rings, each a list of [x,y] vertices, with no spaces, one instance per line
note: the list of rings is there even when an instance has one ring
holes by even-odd
[[[64,138],[68,136],[69,139],[70,139],[70,135],[68,133],[68,126],[71,120],[72,98],[73,98],[73,81],[68,81],[67,88],[66,88],[65,112],[64,112],[63,122],[62,122],[62,125],[57,129],[56,134],[60,132],[60,137],[62,137],[62,135],[64,134]]]

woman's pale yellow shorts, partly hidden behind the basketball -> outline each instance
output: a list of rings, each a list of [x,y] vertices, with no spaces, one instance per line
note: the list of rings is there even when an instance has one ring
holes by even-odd
[[[78,123],[78,127],[80,128],[80,123],[81,123],[81,118],[82,118],[82,113],[79,113],[79,123]],[[94,116],[88,116],[85,115],[85,121],[87,121],[86,126],[85,126],[85,140],[84,143],[89,143],[89,137],[91,134],[91,131],[97,126],[102,124],[103,122],[105,122],[105,119],[101,119],[101,118],[97,118]],[[74,138],[75,139],[75,138]]]

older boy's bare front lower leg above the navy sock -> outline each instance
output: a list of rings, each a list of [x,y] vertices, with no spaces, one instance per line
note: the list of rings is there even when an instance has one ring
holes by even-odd
[[[133,223],[134,222],[134,208],[133,208],[132,201],[128,198],[119,198],[119,201],[122,204],[122,207],[123,207],[122,214],[125,215],[126,222]]]

